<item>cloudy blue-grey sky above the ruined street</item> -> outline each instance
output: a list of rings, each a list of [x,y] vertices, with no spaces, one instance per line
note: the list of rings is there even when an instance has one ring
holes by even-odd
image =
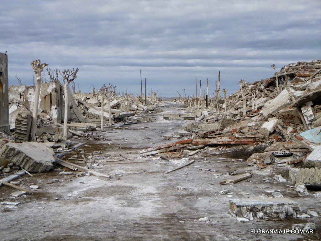
[[[195,76],[213,96],[239,79],[273,76],[289,63],[321,59],[321,1],[0,1],[0,52],[9,85],[32,85],[30,62],[79,68],[78,85],[140,94],[195,95]],[[45,73],[47,73],[45,71]],[[48,76],[47,76],[48,81]]]

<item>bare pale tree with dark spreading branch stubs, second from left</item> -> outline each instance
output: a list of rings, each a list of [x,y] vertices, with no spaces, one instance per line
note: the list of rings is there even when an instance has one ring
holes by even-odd
[[[59,71],[59,74],[63,77],[65,94],[64,140],[67,140],[68,136],[68,85],[77,78],[78,71],[78,68],[73,70],[65,69],[62,73]]]

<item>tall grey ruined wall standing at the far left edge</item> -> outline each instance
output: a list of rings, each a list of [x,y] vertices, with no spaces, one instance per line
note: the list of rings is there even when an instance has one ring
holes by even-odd
[[[0,53],[0,131],[9,133],[8,56]]]

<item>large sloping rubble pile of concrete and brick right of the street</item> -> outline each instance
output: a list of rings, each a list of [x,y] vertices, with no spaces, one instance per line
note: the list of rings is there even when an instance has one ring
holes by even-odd
[[[271,78],[252,84],[241,80],[239,85],[239,91],[224,99],[216,96],[209,108],[206,99],[196,99],[198,103],[186,109],[190,114],[163,118],[195,117],[179,134],[191,136],[195,146],[229,151],[235,145],[265,145],[266,152],[247,159],[249,165],[273,163],[272,151],[283,151],[272,156],[293,155],[302,162],[321,144],[321,61],[289,64]],[[187,105],[192,105],[190,100]],[[273,160],[264,161],[267,156]],[[320,160],[320,156],[313,158]]]

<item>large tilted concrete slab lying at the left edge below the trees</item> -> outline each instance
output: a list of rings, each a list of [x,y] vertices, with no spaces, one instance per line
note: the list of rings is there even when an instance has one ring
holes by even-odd
[[[53,168],[54,152],[45,143],[7,143],[0,157],[21,166],[28,172],[48,172]]]

